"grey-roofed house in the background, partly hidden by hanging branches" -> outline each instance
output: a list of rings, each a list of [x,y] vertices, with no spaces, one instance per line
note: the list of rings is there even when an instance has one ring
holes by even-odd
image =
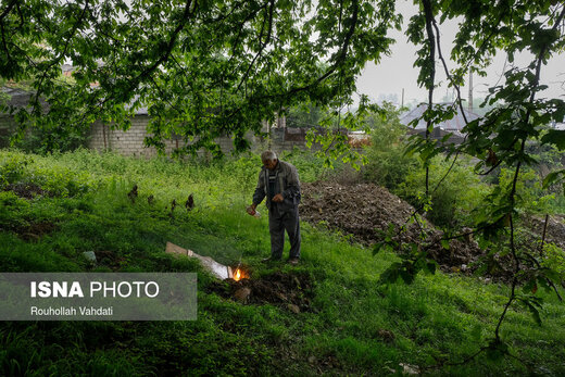
[[[445,105],[451,105],[451,103],[445,103]],[[426,135],[426,122],[422,120],[422,115],[424,112],[428,109],[428,105],[426,103],[420,103],[416,108],[405,112],[400,117],[400,123],[409,127],[409,134],[417,134],[420,136]],[[459,110],[459,109],[457,109]],[[479,117],[479,115],[468,111],[463,110],[465,113],[465,117],[467,118],[467,122],[475,121]],[[416,118],[420,118],[416,127],[413,127],[410,123]],[[448,134],[452,134],[452,136],[449,138],[449,143],[461,143],[463,142],[465,138],[465,134],[463,133],[463,127],[465,127],[465,118],[463,115],[457,111],[455,115],[445,122],[440,123],[439,125],[436,125],[434,127],[434,130],[430,134],[430,137],[437,140],[440,140]]]

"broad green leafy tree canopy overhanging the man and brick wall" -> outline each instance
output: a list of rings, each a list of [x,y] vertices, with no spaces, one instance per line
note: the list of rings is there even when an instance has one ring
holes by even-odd
[[[147,144],[163,150],[174,133],[187,142],[178,154],[221,154],[217,136],[241,150],[282,109],[342,103],[400,20],[393,0],[9,0],[0,77],[33,80],[20,135],[32,125],[64,137],[96,120],[127,129],[147,106]],[[59,78],[67,61],[73,81]]]

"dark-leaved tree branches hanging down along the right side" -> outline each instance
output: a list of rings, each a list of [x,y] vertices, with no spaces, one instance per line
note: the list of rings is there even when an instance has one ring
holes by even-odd
[[[527,67],[510,68],[504,73],[505,83],[490,88],[486,103],[499,103],[498,106],[481,118],[473,122],[465,120],[464,131],[467,136],[461,147],[452,149],[453,164],[460,153],[467,153],[479,160],[477,172],[488,174],[498,167],[504,167],[506,178],[501,179],[476,209],[479,221],[472,233],[445,236],[441,240],[442,244],[448,244],[450,239],[475,234],[479,236],[489,257],[499,253],[510,255],[512,278],[508,300],[502,310],[493,338],[472,357],[484,351],[491,356],[501,356],[510,353],[500,329],[511,306],[525,306],[541,324],[539,309],[542,302],[536,296],[538,286],[553,289],[561,298],[555,286],[558,274],[543,265],[542,253],[538,248],[520,248],[516,242],[516,231],[520,211],[524,210],[524,201],[518,193],[520,177],[527,173],[528,166],[536,166],[538,163],[528,152],[527,142],[540,140],[542,146],[553,144],[557,149],[565,149],[565,131],[551,129],[545,134],[541,133],[549,123],[563,121],[565,102],[561,99],[544,99],[541,93],[547,87],[540,85],[543,65],[553,54],[563,52],[565,47],[565,4],[554,0],[420,0],[416,3],[419,4],[420,12],[411,18],[407,35],[412,42],[420,47],[415,65],[420,70],[418,83],[428,89],[428,109],[423,114],[423,120],[427,122],[426,137],[415,138],[411,148],[419,153],[426,169],[426,191],[418,210],[429,205],[434,192],[444,181],[442,178],[434,187],[430,186],[429,168],[442,149],[429,135],[435,125],[453,117],[456,108],[463,113],[460,86],[464,83],[464,75],[469,70],[485,75],[491,58],[500,51],[507,54],[510,62],[520,52],[529,52],[531,55],[531,63]],[[445,20],[457,20],[460,27],[451,52],[455,67],[451,70],[441,51],[439,24]],[[457,93],[457,100],[451,106],[434,103],[437,59],[449,78],[450,87]],[[563,179],[565,169],[549,174],[545,184]],[[417,222],[416,214],[414,216]],[[426,246],[402,247],[393,241],[392,236],[389,235],[386,239],[389,246],[411,251],[403,255],[403,262],[393,264],[382,275],[385,280],[402,277],[411,282],[419,271],[434,271],[427,262]],[[523,287],[522,291],[518,290],[519,287]]]

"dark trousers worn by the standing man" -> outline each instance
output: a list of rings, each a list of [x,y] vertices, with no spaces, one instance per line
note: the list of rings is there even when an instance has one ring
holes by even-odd
[[[290,240],[290,259],[300,257],[300,223],[298,215],[298,205],[279,211],[278,203],[271,203],[268,211],[268,231],[271,233],[271,257],[279,260],[282,257],[282,249],[285,247],[285,229]]]

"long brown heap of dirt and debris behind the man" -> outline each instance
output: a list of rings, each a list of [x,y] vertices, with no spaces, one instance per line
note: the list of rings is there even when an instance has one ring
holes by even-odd
[[[318,181],[302,185],[300,214],[303,219],[313,224],[323,222],[367,246],[384,240],[389,224],[394,225],[397,234],[413,212],[412,205],[373,184],[344,186]],[[403,243],[422,244],[422,230],[427,236],[423,246],[444,271],[466,271],[482,254],[470,238],[451,240],[445,249],[440,242],[443,234],[429,223],[407,224],[398,239]]]

